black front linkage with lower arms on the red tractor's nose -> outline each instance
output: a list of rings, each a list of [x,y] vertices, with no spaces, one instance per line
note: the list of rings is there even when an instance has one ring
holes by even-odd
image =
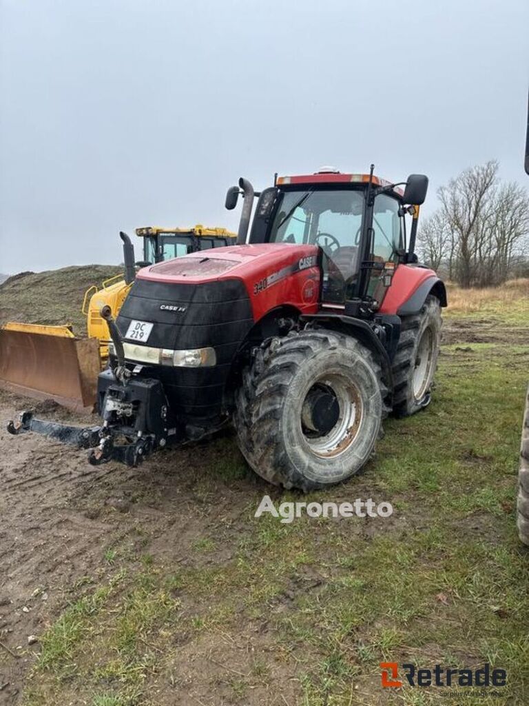
[[[70,426],[35,419],[29,411],[9,421],[7,431],[19,434],[34,431],[77,448],[90,449],[88,461],[99,465],[110,460],[137,466],[154,450],[180,440],[172,419],[162,383],[150,378],[131,378],[126,369],[121,336],[109,307],[102,309],[116,348],[117,363],[100,373],[97,399],[102,410],[101,426]],[[124,442],[124,443],[123,443]]]

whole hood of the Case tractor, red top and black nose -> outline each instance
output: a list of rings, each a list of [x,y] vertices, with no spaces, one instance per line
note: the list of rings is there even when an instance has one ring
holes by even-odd
[[[214,349],[213,366],[156,364],[155,371],[145,366],[145,376],[162,381],[176,414],[218,418],[233,360],[255,325],[272,312],[274,317],[317,311],[317,258],[317,247],[310,245],[238,245],[143,268],[116,320],[128,346],[126,359],[145,362],[143,346],[154,355]],[[138,325],[145,330],[140,340]]]

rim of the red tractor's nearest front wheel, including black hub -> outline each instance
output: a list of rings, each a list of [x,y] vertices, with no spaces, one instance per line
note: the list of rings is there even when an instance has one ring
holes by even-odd
[[[340,373],[310,385],[301,409],[301,432],[312,453],[337,456],[355,441],[363,419],[360,390]]]

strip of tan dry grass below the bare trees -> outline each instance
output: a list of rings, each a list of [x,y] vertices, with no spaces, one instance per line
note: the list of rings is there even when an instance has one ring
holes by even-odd
[[[489,309],[505,307],[516,302],[529,304],[529,277],[519,280],[509,280],[501,287],[484,289],[461,289],[452,283],[448,284],[448,311],[450,313],[475,313]]]

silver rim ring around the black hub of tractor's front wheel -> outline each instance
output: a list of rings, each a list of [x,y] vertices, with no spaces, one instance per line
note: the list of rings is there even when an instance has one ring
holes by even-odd
[[[305,422],[308,421],[306,409],[308,395],[318,385],[332,390],[339,405],[338,419],[332,429],[321,436],[310,436]],[[300,415],[301,433],[312,453],[321,458],[338,456],[344,453],[358,436],[363,419],[363,404],[360,390],[348,378],[340,373],[332,373],[317,378],[307,390]],[[305,427],[305,429],[304,429]]]

